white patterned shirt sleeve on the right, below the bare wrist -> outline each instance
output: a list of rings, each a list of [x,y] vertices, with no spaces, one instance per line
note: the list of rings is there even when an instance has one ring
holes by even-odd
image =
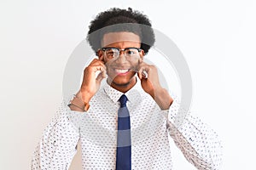
[[[167,111],[167,130],[183,156],[198,169],[219,169],[222,144],[211,127],[191,116],[174,99]]]

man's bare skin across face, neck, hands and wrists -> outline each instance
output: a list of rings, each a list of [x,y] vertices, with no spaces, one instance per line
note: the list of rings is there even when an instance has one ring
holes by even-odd
[[[132,32],[110,32],[103,36],[102,47],[113,48],[140,48],[140,37]],[[123,53],[123,52],[122,52]],[[143,90],[150,94],[161,110],[166,110],[172,105],[172,97],[165,88],[160,86],[157,68],[143,62],[144,52],[140,52],[138,59],[125,59],[124,54],[120,54],[118,59],[108,60],[104,57],[102,50],[97,52],[99,59],[93,59],[84,69],[84,79],[77,94],[79,99],[85,103],[90,103],[90,99],[100,88],[102,79],[107,77],[108,84],[122,93],[130,90],[137,82],[136,74],[141,80]],[[96,71],[101,73],[96,77]],[[147,71],[145,77],[143,71]],[[81,111],[78,107],[70,106],[73,111]]]

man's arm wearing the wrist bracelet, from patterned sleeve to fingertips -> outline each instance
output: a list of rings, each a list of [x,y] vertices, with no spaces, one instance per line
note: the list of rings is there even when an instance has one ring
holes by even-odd
[[[96,77],[96,71],[101,73]],[[44,130],[32,158],[32,169],[68,169],[77,150],[79,141],[79,120],[81,112],[87,111],[90,99],[99,89],[102,79],[107,77],[106,67],[101,59],[93,59],[84,69],[81,88],[68,105],[64,101],[55,119]]]

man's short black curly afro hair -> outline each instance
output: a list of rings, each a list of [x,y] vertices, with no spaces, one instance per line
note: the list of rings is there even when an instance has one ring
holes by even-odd
[[[145,54],[148,54],[149,48],[154,45],[154,31],[148,16],[132,8],[110,8],[98,14],[95,20],[90,21],[87,41],[96,53],[99,48],[102,48],[101,42],[104,34],[118,31],[130,31],[137,34]]]

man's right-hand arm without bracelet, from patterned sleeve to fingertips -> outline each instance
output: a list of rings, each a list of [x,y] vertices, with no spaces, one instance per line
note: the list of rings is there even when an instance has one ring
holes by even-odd
[[[198,118],[187,115],[182,108],[179,110],[177,100],[172,99],[166,89],[161,88],[154,65],[141,62],[137,74],[143,90],[151,95],[163,113],[169,109],[167,129],[186,159],[198,169],[218,169],[222,161],[222,146],[217,134]],[[177,113],[178,111],[182,112]]]

